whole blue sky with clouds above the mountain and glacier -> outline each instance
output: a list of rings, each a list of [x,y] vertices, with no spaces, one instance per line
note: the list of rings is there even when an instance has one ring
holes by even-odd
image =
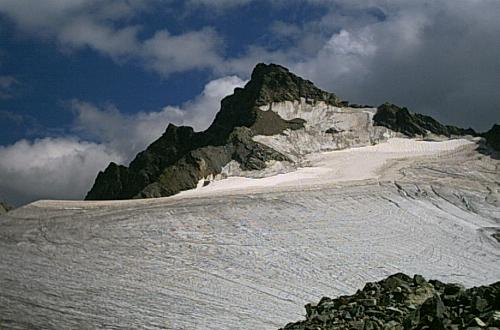
[[[81,199],[259,62],[353,103],[500,122],[498,0],[0,0],[0,200]]]

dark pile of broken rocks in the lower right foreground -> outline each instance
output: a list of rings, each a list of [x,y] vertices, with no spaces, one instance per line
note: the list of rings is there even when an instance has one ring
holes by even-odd
[[[352,296],[307,304],[306,320],[283,329],[465,329],[498,327],[500,282],[465,290],[395,274],[367,283]]]

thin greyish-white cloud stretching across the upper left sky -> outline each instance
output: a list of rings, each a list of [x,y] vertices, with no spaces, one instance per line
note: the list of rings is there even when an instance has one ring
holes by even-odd
[[[209,27],[172,35],[167,30],[139,38],[132,18],[157,0],[0,1],[0,14],[22,31],[54,39],[65,51],[90,48],[114,60],[137,60],[162,75],[220,65],[222,38]],[[36,13],[36,15],[33,15]]]

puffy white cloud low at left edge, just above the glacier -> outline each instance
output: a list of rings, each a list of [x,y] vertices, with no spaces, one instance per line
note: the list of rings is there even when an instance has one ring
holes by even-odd
[[[76,138],[20,140],[0,146],[0,197],[16,204],[40,198],[82,198],[98,171],[120,160],[105,145]]]

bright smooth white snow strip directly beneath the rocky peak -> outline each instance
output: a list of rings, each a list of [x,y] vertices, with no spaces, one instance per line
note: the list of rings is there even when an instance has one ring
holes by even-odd
[[[219,192],[248,193],[255,188],[318,186],[377,179],[383,173],[384,165],[390,160],[421,156],[441,157],[471,145],[475,146],[475,143],[465,139],[431,142],[392,138],[374,146],[308,154],[302,161],[308,166],[293,172],[257,179],[233,176],[212,181],[206,186],[203,186],[205,180],[201,180],[197,189],[183,191],[178,196],[203,196]]]

